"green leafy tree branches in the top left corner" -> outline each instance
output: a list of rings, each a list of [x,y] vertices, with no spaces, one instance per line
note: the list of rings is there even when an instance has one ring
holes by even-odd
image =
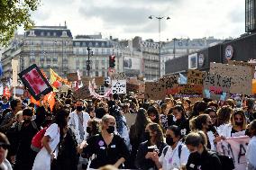
[[[32,28],[31,12],[37,10],[41,0],[0,0],[0,45],[7,45],[18,27]]]

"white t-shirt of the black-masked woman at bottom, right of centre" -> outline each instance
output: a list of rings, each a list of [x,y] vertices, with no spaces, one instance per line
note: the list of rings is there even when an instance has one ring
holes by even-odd
[[[182,145],[180,158],[178,157],[178,146]],[[189,156],[189,151],[185,145],[183,145],[180,141],[176,148],[172,149],[168,148],[165,156],[162,152],[160,156],[160,164],[162,165],[163,170],[172,170],[174,168],[180,168],[180,166],[186,166],[187,159]]]

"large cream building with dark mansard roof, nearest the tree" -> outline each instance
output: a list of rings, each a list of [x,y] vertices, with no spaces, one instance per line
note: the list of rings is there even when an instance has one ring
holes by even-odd
[[[10,76],[12,59],[18,60],[19,71],[36,64],[47,76],[50,68],[59,76],[67,76],[73,57],[72,39],[67,26],[36,26],[25,31],[22,40],[3,54],[5,76]]]

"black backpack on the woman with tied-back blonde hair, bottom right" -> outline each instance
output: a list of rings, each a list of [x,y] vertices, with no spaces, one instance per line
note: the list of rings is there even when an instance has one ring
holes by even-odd
[[[219,154],[218,152],[213,152],[213,151],[209,151],[209,153],[211,156],[215,155],[215,156],[219,157],[223,170],[233,170],[234,169],[232,157],[224,156],[222,154]]]

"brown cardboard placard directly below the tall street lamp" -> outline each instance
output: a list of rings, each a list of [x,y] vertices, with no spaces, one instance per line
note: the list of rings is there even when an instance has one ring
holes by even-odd
[[[145,99],[163,100],[166,95],[166,86],[160,85],[159,82],[145,83]]]

